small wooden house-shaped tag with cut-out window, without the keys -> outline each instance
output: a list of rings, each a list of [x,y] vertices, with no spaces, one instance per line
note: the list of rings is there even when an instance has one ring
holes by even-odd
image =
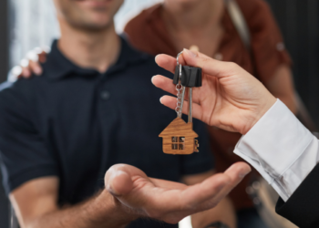
[[[183,119],[176,118],[160,133],[163,138],[163,152],[168,154],[191,154],[198,152],[199,137],[192,130],[192,122],[186,123]]]

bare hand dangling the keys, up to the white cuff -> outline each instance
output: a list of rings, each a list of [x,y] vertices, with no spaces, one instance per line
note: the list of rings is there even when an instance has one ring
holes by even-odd
[[[159,55],[156,62],[174,72],[176,59]],[[262,83],[234,63],[221,62],[201,53],[185,49],[180,57],[182,65],[202,68],[202,87],[193,88],[193,117],[223,130],[245,134],[270,109],[276,99]],[[153,84],[172,94],[175,85],[170,78],[155,76]],[[185,96],[185,100],[188,96]],[[164,96],[160,102],[170,109],[176,108],[176,98]],[[183,113],[188,113],[188,102]]]

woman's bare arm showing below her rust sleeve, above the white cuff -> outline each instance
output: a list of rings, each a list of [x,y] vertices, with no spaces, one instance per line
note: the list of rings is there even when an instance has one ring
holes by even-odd
[[[297,112],[293,91],[292,70],[286,65],[277,67],[273,77],[268,80],[265,87],[273,94],[275,98],[279,98],[294,113]]]

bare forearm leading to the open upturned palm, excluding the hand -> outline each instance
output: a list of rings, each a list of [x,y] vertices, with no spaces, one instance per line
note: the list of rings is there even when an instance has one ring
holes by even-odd
[[[133,214],[111,194],[103,191],[87,202],[46,213],[33,220],[26,228],[119,228],[137,219]]]

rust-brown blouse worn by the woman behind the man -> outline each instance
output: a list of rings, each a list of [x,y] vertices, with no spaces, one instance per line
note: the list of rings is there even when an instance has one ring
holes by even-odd
[[[252,51],[248,51],[243,45],[225,9],[221,19],[224,35],[214,57],[237,63],[265,83],[273,77],[277,67],[290,66],[291,59],[284,48],[283,37],[269,5],[262,0],[237,0],[237,2],[251,32]],[[139,16],[129,21],[124,31],[130,43],[139,50],[154,56],[164,53],[176,57],[180,50],[173,45],[162,19],[162,10],[163,6],[159,4],[142,11]],[[216,128],[210,128],[210,133],[217,171],[225,171],[233,162],[242,161],[232,153],[241,137],[240,134]],[[237,209],[252,207],[252,201],[245,192],[252,175],[246,177],[230,194]]]

